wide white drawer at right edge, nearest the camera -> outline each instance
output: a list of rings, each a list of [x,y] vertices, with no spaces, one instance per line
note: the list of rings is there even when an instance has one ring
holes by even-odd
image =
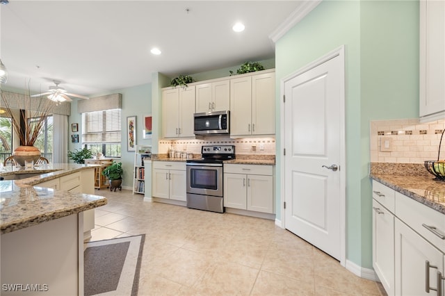
[[[396,216],[445,253],[444,214],[396,192]]]

